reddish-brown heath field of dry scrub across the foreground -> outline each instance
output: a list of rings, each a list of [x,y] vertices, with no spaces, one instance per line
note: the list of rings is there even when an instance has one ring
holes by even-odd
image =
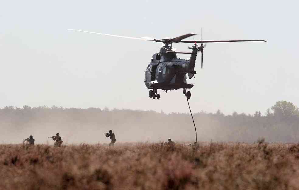
[[[299,145],[0,145],[2,190],[299,189]]]

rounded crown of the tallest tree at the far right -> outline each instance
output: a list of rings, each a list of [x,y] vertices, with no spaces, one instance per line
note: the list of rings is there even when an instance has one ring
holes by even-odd
[[[292,102],[278,101],[271,107],[274,116],[279,118],[288,118],[290,116],[299,115],[299,109]]]

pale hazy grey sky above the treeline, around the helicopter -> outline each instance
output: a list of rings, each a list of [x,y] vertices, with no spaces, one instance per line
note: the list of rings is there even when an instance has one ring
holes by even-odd
[[[267,42],[207,44],[204,68],[198,60],[189,80],[193,112],[263,113],[278,100],[299,106],[297,1],[182,2],[1,1],[0,107],[188,112],[183,90],[148,97],[143,71],[161,43],[67,29],[163,38],[201,27],[204,40]]]

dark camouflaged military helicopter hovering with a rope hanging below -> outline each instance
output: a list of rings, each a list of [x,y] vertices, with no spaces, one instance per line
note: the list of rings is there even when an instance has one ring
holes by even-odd
[[[96,32],[88,32],[83,30],[69,29],[86,33],[101,34],[106,36],[114,36],[121,38],[128,38],[134,40],[144,40],[161,42],[162,47],[160,51],[153,55],[150,64],[145,72],[144,83],[145,86],[150,89],[149,97],[153,99],[160,99],[160,94],[157,93],[158,89],[164,90],[166,93],[170,90],[183,89],[183,94],[187,96],[188,99],[191,97],[191,92],[186,92],[186,89],[193,87],[193,84],[188,84],[186,79],[186,74],[188,74],[189,79],[195,78],[194,75],[196,71],[194,70],[197,52],[201,52],[201,68],[203,68],[203,49],[206,44],[203,43],[216,43],[216,42],[255,42],[265,40],[203,40],[202,30],[201,30],[201,40],[191,40],[184,41],[185,38],[194,36],[196,34],[188,33],[175,38],[162,38],[154,39],[150,37],[128,37],[128,36],[118,36],[112,34],[103,34]],[[197,45],[200,43],[200,46]],[[181,52],[176,51],[176,48],[172,47],[172,43],[194,43],[193,46],[188,47],[192,52]],[[176,54],[191,54],[189,60],[177,58]]]

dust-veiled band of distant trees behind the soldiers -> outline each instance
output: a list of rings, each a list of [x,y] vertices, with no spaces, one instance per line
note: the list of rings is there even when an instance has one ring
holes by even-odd
[[[198,141],[253,142],[265,137],[269,142],[297,142],[299,138],[299,111],[287,101],[276,102],[264,114],[234,112],[226,116],[218,110],[193,116]],[[190,114],[162,111],[6,106],[0,109],[0,127],[2,143],[19,143],[29,135],[37,143],[47,143],[46,137],[57,132],[66,143],[107,143],[109,140],[103,133],[110,129],[118,142],[195,140]]]

